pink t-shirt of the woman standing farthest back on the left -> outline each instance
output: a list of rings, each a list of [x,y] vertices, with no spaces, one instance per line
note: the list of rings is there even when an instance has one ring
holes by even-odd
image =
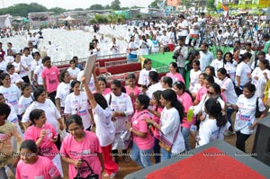
[[[46,82],[47,92],[56,92],[58,89],[59,81],[58,81],[59,70],[58,67],[51,66],[50,68],[44,67],[41,72],[41,77]]]

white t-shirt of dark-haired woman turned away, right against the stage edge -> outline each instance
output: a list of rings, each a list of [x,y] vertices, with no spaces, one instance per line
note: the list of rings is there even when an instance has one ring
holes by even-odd
[[[217,139],[224,139],[224,131],[227,125],[222,127],[217,126],[217,120],[205,119],[200,125],[199,130],[199,144],[200,146],[208,144]]]

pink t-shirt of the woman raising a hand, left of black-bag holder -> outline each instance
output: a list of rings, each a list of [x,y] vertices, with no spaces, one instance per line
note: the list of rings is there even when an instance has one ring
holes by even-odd
[[[40,131],[46,130],[46,135],[44,139],[42,139],[40,143],[40,153],[44,157],[48,157],[49,159],[54,158],[58,154],[58,148],[51,139],[55,136],[58,136],[55,129],[49,123],[46,123],[42,128],[37,128],[36,126],[32,125],[24,133],[24,140],[32,139],[37,141],[40,139]]]

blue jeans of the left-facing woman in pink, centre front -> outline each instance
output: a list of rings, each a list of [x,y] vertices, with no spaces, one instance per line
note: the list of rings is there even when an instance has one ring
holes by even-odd
[[[152,148],[144,150],[139,149],[137,144],[133,141],[133,145],[131,148],[130,158],[136,162],[139,166],[145,168],[147,166],[151,166],[151,153]]]

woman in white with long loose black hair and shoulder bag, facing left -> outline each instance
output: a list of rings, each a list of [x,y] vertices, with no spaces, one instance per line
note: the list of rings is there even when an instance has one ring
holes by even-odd
[[[160,148],[161,162],[184,152],[184,137],[181,132],[181,123],[184,118],[184,107],[177,100],[177,95],[172,89],[161,92],[160,103],[165,106],[161,112],[160,124],[154,120],[147,120],[160,133],[160,140],[170,144],[171,151]]]

